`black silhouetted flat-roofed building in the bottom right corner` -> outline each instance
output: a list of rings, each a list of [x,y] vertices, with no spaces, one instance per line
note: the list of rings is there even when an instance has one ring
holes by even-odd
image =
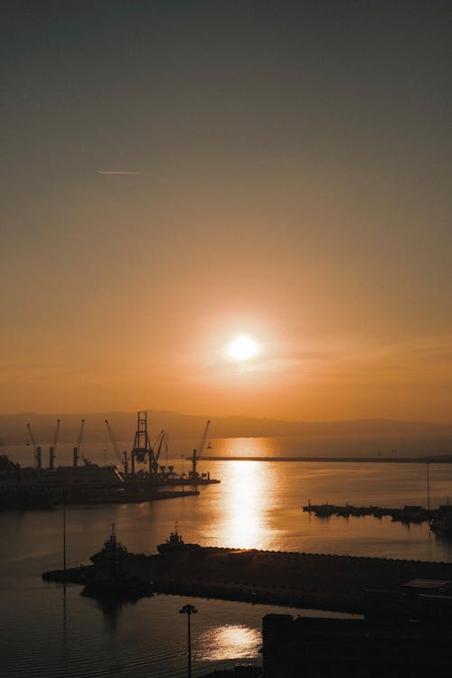
[[[452,633],[439,623],[267,615],[262,636],[265,678],[450,675]]]

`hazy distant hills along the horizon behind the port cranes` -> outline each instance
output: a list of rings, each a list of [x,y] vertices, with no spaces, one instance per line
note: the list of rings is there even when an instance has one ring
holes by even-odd
[[[59,441],[75,445],[80,420],[85,419],[83,439],[103,442],[106,439],[104,420],[108,419],[118,441],[132,441],[137,429],[137,412],[96,412],[91,414],[21,414],[0,415],[0,441],[4,446],[24,445],[29,440],[29,422],[38,445],[52,443],[57,419],[61,419]],[[207,417],[176,412],[147,410],[150,438],[161,428],[171,438],[202,438]],[[397,421],[391,419],[356,419],[348,421],[281,421],[249,417],[212,417],[209,438],[260,438],[278,436],[445,436],[452,437],[452,424],[428,421]]]

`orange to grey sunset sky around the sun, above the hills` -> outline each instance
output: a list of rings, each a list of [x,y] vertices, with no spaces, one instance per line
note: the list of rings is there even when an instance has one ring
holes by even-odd
[[[451,24],[6,2],[0,411],[451,422]]]

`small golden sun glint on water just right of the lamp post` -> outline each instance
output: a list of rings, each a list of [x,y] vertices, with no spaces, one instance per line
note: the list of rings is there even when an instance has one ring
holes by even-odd
[[[232,624],[206,631],[199,638],[198,661],[217,662],[223,659],[243,659],[259,653],[262,637],[258,628]]]

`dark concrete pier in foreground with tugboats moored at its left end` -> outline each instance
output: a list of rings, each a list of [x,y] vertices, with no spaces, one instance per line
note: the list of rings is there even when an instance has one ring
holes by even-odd
[[[127,553],[121,567],[151,581],[155,592],[357,614],[372,607],[366,589],[400,589],[411,579],[452,580],[452,563],[210,547]],[[61,571],[43,577],[61,581]],[[77,579],[66,580],[84,583],[80,569],[75,574]]]

